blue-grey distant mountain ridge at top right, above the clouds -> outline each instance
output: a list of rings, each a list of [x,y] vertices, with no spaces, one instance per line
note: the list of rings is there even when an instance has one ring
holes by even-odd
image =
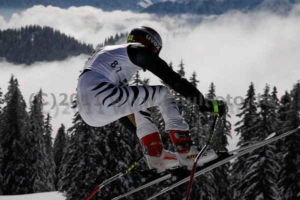
[[[271,11],[281,15],[287,14],[298,0],[191,0],[186,2],[159,2],[148,6],[140,13],[158,15],[170,14],[196,14],[196,15],[222,15],[238,10],[241,12]]]

